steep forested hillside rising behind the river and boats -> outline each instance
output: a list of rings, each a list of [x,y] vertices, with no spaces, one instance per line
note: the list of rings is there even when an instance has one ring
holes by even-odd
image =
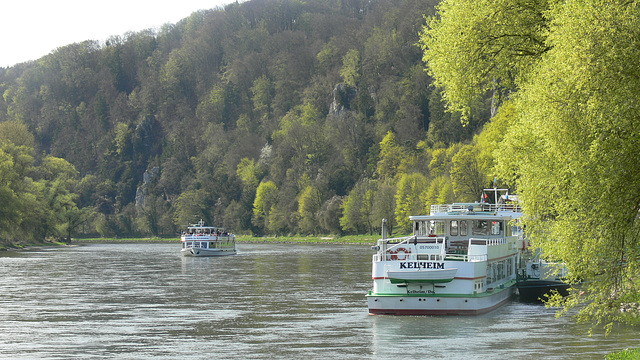
[[[474,139],[488,96],[445,112],[436,2],[254,0],[0,68],[0,239],[364,233],[477,199],[503,125]]]

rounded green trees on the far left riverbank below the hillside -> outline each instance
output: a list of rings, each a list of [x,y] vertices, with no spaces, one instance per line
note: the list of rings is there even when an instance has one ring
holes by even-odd
[[[65,238],[86,221],[88,209],[79,209],[74,193],[78,172],[64,159],[46,156],[40,166],[33,166],[33,148],[29,136],[16,124],[0,142],[0,240],[5,242],[43,241]],[[23,129],[23,128],[22,128]],[[28,216],[25,216],[28,215]]]

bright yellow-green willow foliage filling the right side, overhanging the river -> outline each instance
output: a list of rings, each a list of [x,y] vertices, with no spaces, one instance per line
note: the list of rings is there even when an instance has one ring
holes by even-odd
[[[445,1],[422,33],[452,108],[492,84],[511,91],[499,175],[532,243],[581,282],[551,304],[607,330],[640,304],[639,15],[638,1]]]

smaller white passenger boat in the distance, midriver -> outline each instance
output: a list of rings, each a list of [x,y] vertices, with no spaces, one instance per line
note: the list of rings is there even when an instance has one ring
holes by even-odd
[[[236,236],[200,220],[191,224],[180,237],[184,256],[224,256],[236,254]]]

